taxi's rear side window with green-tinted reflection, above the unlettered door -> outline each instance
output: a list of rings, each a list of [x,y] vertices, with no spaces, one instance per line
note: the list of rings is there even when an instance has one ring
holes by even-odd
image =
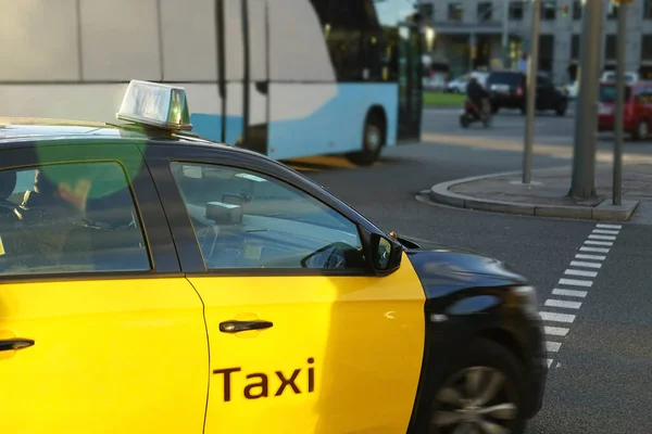
[[[0,276],[150,268],[120,164],[0,170]]]

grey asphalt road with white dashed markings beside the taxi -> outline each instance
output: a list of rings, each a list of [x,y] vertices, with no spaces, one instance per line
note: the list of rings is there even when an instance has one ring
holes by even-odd
[[[555,328],[551,331],[565,335],[549,336],[553,361],[544,408],[527,433],[651,433],[652,284],[648,267],[652,226],[623,224],[619,229],[605,229],[590,221],[473,212],[415,200],[415,194],[437,182],[519,169],[521,149],[500,143],[523,137],[522,119],[519,114],[501,113],[490,130],[463,131],[455,113],[424,112],[425,137],[454,136],[457,142],[403,145],[385,152],[383,162],[373,167],[308,175],[388,230],[505,260],[538,288],[541,311],[566,321],[570,317],[557,314],[573,316],[573,322],[547,322]],[[552,150],[537,153],[535,165],[569,164],[573,119],[541,115],[536,128],[537,143],[548,143]],[[474,135],[497,143],[468,144]],[[609,139],[603,141],[601,146],[607,149]],[[652,153],[651,143],[626,148]],[[613,235],[600,234],[603,231]],[[595,240],[611,245],[592,244]],[[604,251],[587,252],[587,247]],[[600,268],[570,266],[573,260],[584,261],[577,254],[602,257],[593,261]],[[568,276],[568,269],[580,270],[585,277]],[[572,296],[555,295],[553,290],[562,288],[560,279],[579,279],[590,286],[567,285],[575,291]],[[561,307],[544,305],[559,302]]]

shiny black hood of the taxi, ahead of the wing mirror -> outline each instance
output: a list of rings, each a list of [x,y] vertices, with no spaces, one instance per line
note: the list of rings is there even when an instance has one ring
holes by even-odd
[[[403,244],[415,271],[424,285],[497,286],[527,284],[527,279],[506,264],[482,254],[419,240],[403,234],[396,235]]]

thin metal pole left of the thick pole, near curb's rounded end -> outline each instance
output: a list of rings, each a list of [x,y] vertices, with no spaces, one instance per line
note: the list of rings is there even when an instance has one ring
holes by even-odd
[[[541,0],[532,0],[532,23],[530,55],[527,64],[527,117],[525,119],[525,149],[523,152],[523,183],[532,178],[532,142],[535,140],[535,108],[537,99],[537,72],[539,69],[539,25],[541,22]]]

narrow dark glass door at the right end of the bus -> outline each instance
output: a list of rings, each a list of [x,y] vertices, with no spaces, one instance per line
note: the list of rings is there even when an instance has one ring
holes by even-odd
[[[421,140],[423,106],[421,31],[410,23],[399,24],[399,141]]]

